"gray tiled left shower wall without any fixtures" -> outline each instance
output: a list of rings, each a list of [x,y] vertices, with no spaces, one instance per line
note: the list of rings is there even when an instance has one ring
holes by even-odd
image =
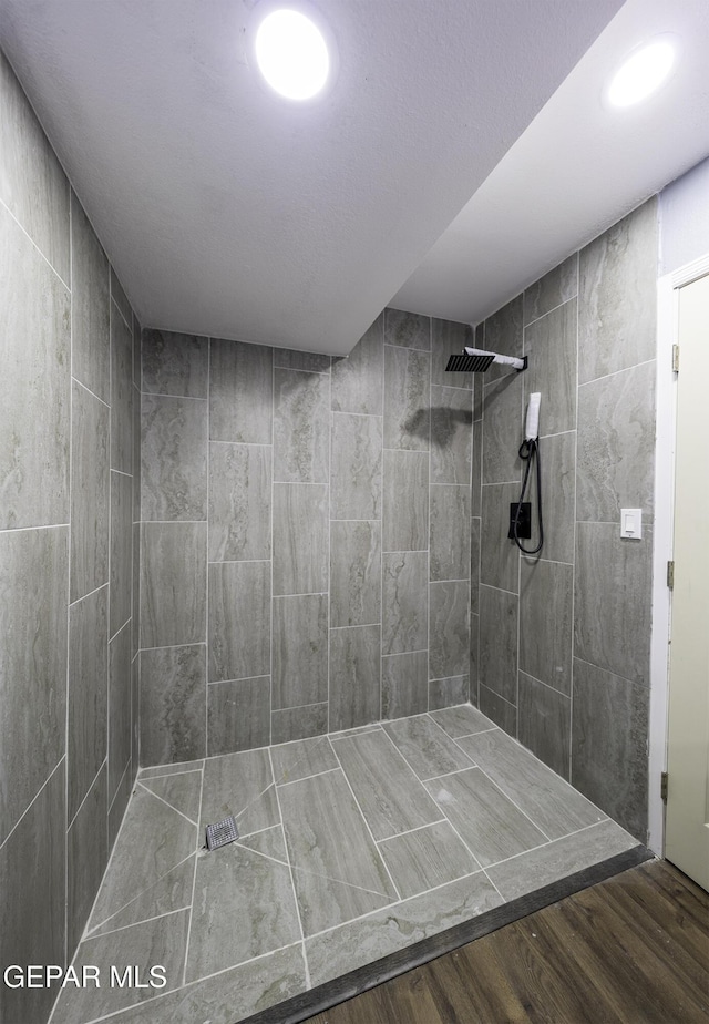
[[[1,53],[0,137],[0,960],[66,964],[137,769],[140,330]]]

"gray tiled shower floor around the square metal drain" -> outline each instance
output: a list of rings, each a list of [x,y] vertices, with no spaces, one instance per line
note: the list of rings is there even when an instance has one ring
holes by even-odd
[[[469,705],[144,769],[74,959],[101,986],[51,1024],[234,1024],[636,847]]]

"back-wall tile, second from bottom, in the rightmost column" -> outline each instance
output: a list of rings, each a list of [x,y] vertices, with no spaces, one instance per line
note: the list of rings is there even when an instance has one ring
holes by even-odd
[[[470,657],[470,583],[429,584],[429,678],[467,673]]]

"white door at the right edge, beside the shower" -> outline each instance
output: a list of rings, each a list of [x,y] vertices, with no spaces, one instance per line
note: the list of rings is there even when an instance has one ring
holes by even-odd
[[[709,890],[709,277],[679,293],[665,856]]]

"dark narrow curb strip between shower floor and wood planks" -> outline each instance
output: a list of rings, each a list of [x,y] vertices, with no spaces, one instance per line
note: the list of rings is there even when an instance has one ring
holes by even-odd
[[[542,889],[510,900],[470,921],[463,921],[436,935],[421,939],[403,950],[397,950],[380,960],[349,971],[340,977],[294,995],[281,1003],[276,1003],[268,1010],[261,1010],[249,1017],[242,1017],[234,1024],[302,1024],[315,1014],[331,1010],[338,1003],[343,1003],[369,989],[374,989],[382,982],[391,981],[413,967],[420,967],[438,956],[451,953],[475,939],[482,939],[483,935],[504,928],[506,924],[520,921],[537,910],[543,910],[598,882],[605,882],[623,871],[637,868],[648,860],[657,860],[657,858],[647,847],[638,843],[623,853],[617,853],[615,857],[584,868]]]

